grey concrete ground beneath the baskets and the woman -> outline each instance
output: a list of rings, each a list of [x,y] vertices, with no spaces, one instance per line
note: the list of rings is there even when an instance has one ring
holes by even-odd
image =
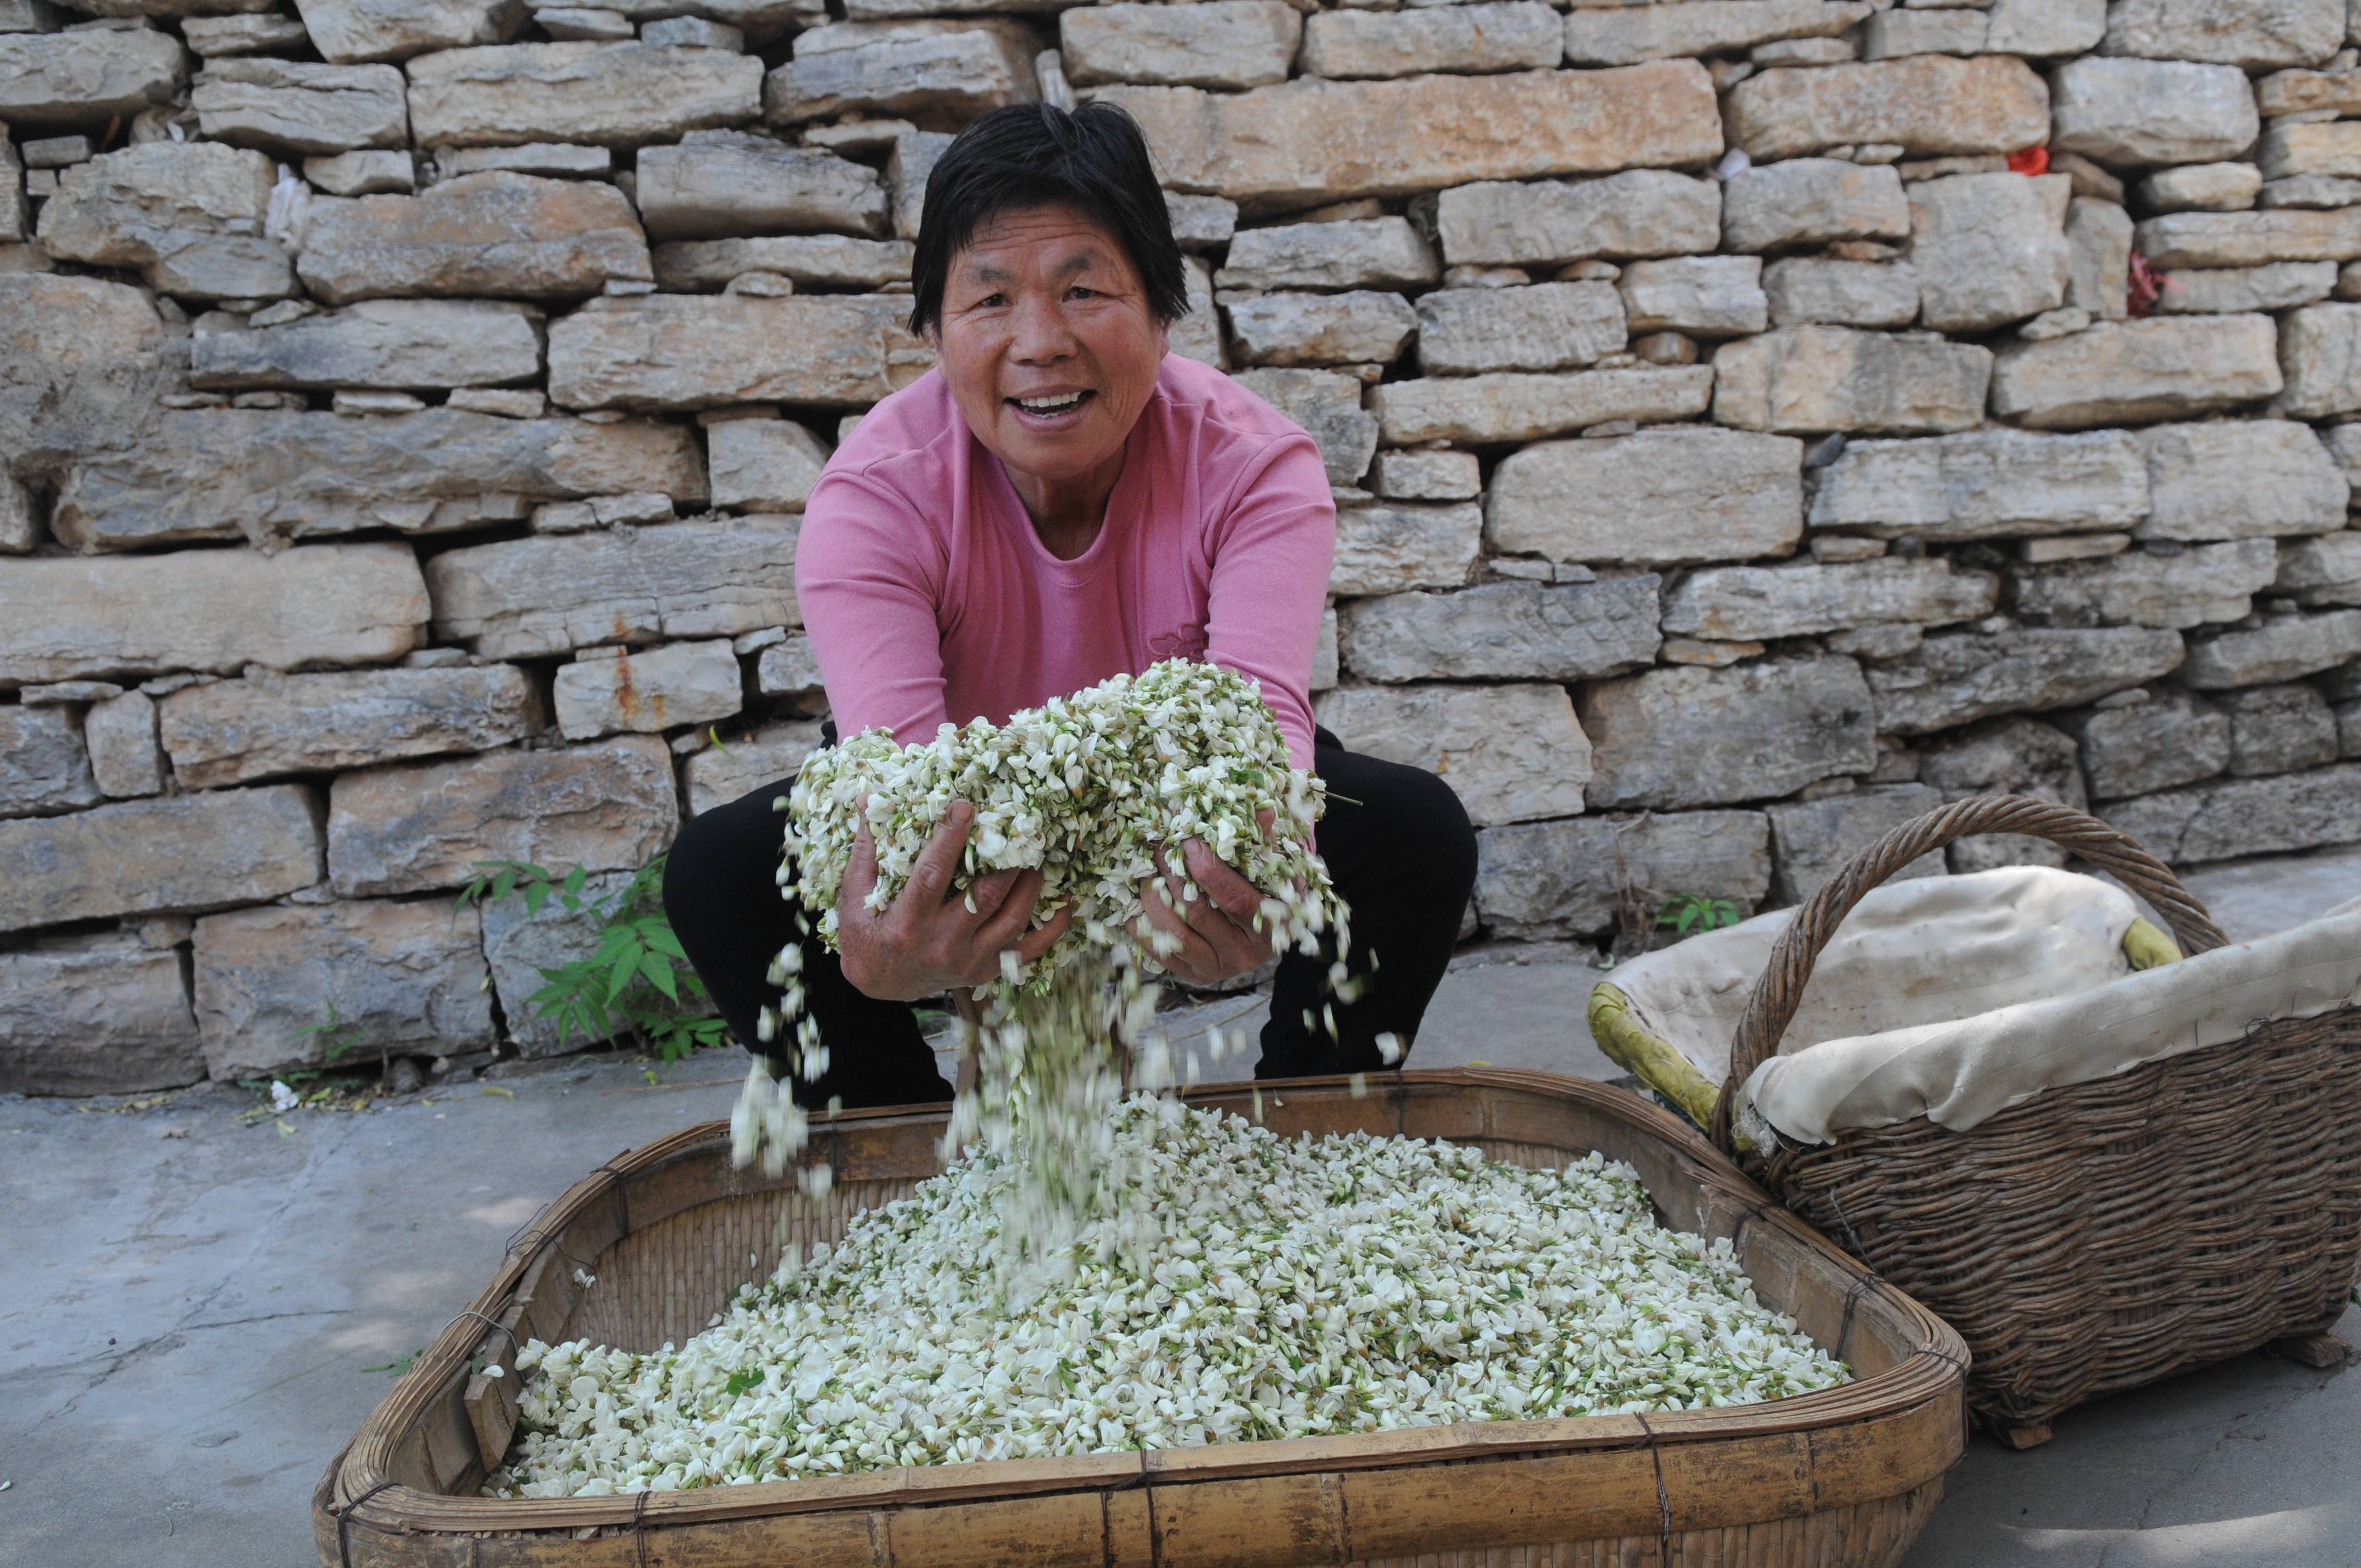
[[[2257,935],[2361,895],[2361,850],[2193,883]],[[1615,1077],[1582,954],[1520,956],[1461,956],[1414,1065]],[[1256,1023],[1230,999],[1185,1027]],[[725,1117],[741,1065],[564,1060],[357,1115],[0,1098],[0,1566],[307,1563],[312,1483],[392,1367],[567,1183]],[[2361,1372],[2245,1355],[2071,1412],[2033,1452],[1976,1438],[1908,1563],[2352,1568]]]

